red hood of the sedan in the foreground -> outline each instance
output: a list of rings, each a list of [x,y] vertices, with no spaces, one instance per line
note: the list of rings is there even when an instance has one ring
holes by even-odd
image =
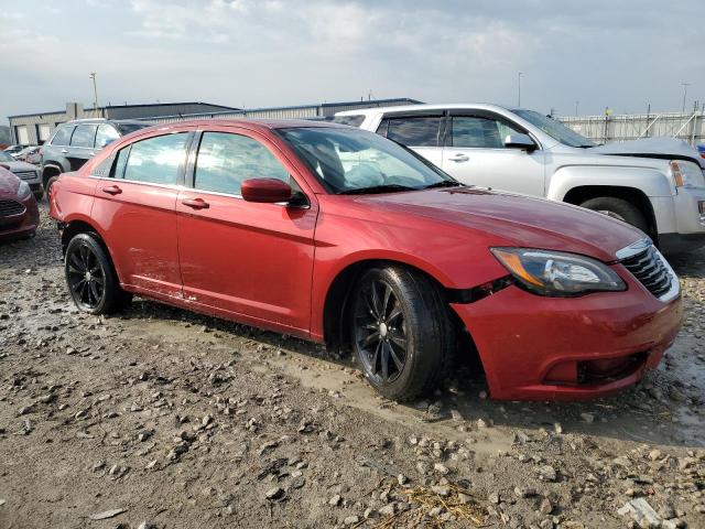
[[[600,213],[568,204],[478,187],[359,196],[388,210],[412,214],[495,236],[496,246],[570,251],[615,261],[617,250],[644,234]]]

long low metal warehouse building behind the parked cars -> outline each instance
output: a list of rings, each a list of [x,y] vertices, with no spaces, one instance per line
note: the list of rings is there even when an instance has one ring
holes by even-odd
[[[140,119],[154,122],[171,122],[196,118],[226,119],[235,117],[280,119],[321,118],[356,108],[413,105],[421,101],[416,101],[415,99],[395,98],[253,109],[224,107],[221,105],[210,105],[207,102],[122,105],[84,109],[84,106],[79,102],[68,102],[66,104],[65,110],[10,116],[8,119],[10,121],[12,142],[29,145],[44,143],[59,123],[82,118]]]

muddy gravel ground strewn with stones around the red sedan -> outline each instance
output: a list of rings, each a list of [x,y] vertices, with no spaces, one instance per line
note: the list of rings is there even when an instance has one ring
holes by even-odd
[[[640,386],[494,402],[462,367],[401,406],[305,342],[78,313],[42,213],[0,246],[2,528],[705,528],[705,251],[673,262],[686,322]]]

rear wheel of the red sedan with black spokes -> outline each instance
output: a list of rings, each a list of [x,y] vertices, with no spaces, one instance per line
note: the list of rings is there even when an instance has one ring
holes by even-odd
[[[120,288],[108,252],[96,234],[78,234],[66,247],[66,284],[76,306],[89,314],[111,314],[131,300]]]

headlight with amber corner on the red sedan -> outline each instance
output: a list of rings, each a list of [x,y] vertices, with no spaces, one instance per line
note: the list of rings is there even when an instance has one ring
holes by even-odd
[[[627,285],[608,266],[588,257],[531,248],[490,248],[521,287],[541,295],[620,291]]]

